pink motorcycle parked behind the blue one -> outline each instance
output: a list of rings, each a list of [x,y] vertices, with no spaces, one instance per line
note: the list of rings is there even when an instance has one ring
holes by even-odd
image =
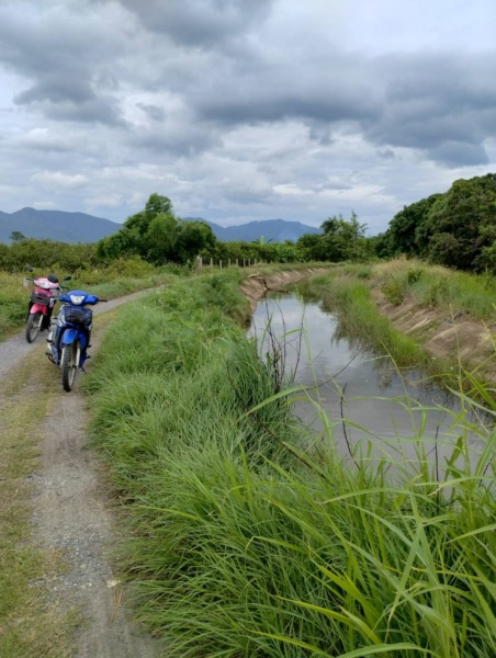
[[[26,269],[33,272],[31,265],[27,265]],[[69,279],[70,276],[65,276],[63,281],[69,281]],[[27,342],[33,342],[36,340],[40,331],[49,329],[55,304],[59,293],[64,288],[55,274],[37,279],[29,279],[26,276],[24,279],[24,287],[27,287],[30,283],[34,284],[34,291],[31,293],[27,306],[26,340]]]

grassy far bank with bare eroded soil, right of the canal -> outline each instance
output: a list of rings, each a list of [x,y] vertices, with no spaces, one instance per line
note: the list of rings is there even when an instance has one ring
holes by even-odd
[[[306,295],[322,299],[324,307],[339,317],[339,329],[379,353],[391,354],[398,367],[419,366],[443,384],[456,389],[473,388],[472,379],[486,381],[495,368],[496,280],[430,266],[419,261],[395,260],[371,265],[340,265],[298,284]],[[390,308],[417,314],[417,326],[407,331],[395,328],[377,307],[377,294]],[[418,315],[424,314],[424,315]],[[429,314],[431,317],[429,318]],[[474,358],[480,339],[473,333],[464,340],[464,327],[458,331],[459,344],[433,358],[426,343],[456,318],[476,322],[484,330],[487,347]],[[413,322],[415,325],[415,322]],[[475,344],[474,344],[475,343]],[[472,373],[470,371],[473,371]],[[488,399],[489,396],[486,396]]]

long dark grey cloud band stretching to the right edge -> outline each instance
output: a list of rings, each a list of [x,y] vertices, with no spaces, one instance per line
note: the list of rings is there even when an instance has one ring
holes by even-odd
[[[249,66],[230,60],[223,68],[221,63],[211,76],[201,68],[183,98],[198,121],[218,127],[294,118],[307,125],[311,139],[322,146],[346,131],[362,133],[382,149],[424,150],[439,162],[447,161],[447,154],[460,158],[459,166],[487,162],[482,145],[496,128],[491,57],[351,59],[332,53],[320,68],[312,64],[280,60],[267,67],[257,56]]]

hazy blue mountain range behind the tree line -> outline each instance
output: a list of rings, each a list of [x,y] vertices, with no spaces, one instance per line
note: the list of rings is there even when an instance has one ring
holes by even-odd
[[[266,242],[295,242],[304,234],[319,234],[320,229],[300,222],[267,219],[238,226],[219,226],[201,217],[184,217],[185,222],[205,222],[223,242],[253,242],[261,237]],[[26,238],[49,239],[58,242],[98,242],[122,228],[122,224],[86,213],[36,211],[22,208],[15,213],[0,211],[0,242],[10,245],[11,235],[19,231]]]

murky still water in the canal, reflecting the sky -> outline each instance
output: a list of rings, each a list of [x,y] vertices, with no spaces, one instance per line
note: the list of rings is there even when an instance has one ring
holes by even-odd
[[[472,463],[482,451],[484,426],[469,417],[481,428],[474,431],[462,421],[466,415],[455,396],[419,371],[398,373],[388,358],[342,336],[338,318],[320,304],[293,293],[268,297],[258,304],[249,334],[262,354],[278,343],[286,378],[304,389],[295,413],[314,441],[330,442],[342,457],[370,452],[414,469],[422,462],[439,479],[459,436],[466,436]]]

